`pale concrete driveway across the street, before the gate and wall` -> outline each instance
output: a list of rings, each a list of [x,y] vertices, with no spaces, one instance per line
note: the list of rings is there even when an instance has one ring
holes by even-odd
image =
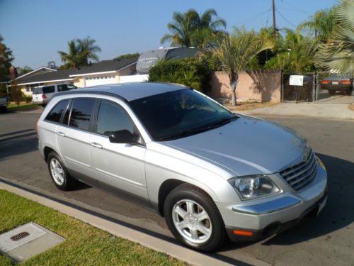
[[[348,104],[280,103],[275,106],[249,111],[236,111],[236,113],[272,116],[308,116],[354,120],[354,111],[351,111],[348,106]]]

